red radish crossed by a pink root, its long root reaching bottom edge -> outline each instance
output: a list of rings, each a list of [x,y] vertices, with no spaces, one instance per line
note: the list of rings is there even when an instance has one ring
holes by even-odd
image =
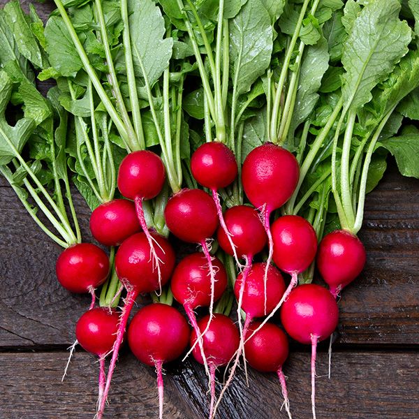
[[[265,272],[267,272],[266,287]],[[246,280],[244,281],[244,279]],[[240,355],[244,352],[244,339],[246,339],[251,321],[253,321],[253,318],[264,316],[265,310],[267,313],[270,313],[281,300],[285,288],[284,278],[282,277],[281,272],[273,265],[266,268],[265,263],[254,263],[247,274],[242,272],[237,276],[234,285],[234,293],[238,300],[238,306],[246,313],[246,320],[244,321],[242,332],[243,338],[240,340],[240,346],[237,350],[235,361],[233,367],[230,369],[226,384],[224,385],[223,390],[221,390],[219,399],[214,407],[214,414],[221,402],[224,392],[226,392],[228,385],[230,385],[233,380],[235,369],[240,360]],[[244,360],[244,365],[246,365],[246,360]]]

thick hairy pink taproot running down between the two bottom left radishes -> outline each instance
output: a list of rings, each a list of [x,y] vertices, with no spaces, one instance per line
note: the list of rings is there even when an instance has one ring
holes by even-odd
[[[105,390],[103,390],[103,398],[101,401],[101,406],[99,406],[97,419],[101,419],[103,416],[103,411],[105,411],[106,399],[108,399],[108,393],[110,389],[110,382],[112,381],[112,374],[115,370],[115,365],[117,364],[119,348],[121,348],[122,339],[124,339],[124,334],[126,330],[126,323],[128,323],[128,317],[133,308],[135,299],[138,296],[138,291],[131,290],[126,294],[124,309],[122,309],[121,316],[119,317],[119,326],[117,330],[117,339],[112,348],[112,359],[110,360],[110,365],[108,369],[108,377],[106,378]]]

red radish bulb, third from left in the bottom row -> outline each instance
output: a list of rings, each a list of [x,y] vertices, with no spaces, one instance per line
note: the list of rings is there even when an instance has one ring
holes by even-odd
[[[202,333],[210,321],[210,316],[205,316],[198,321],[198,328]],[[195,344],[196,332],[192,330],[190,345]],[[233,358],[239,348],[240,334],[231,318],[224,314],[214,314],[210,328],[203,336],[203,348],[207,362],[215,367],[224,367]],[[193,358],[200,364],[204,364],[203,357],[198,345],[193,348]]]

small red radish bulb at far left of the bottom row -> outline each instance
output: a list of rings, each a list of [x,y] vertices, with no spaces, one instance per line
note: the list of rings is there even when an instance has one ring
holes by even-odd
[[[75,326],[75,337],[84,351],[103,356],[117,339],[119,314],[115,309],[96,307],[86,311]]]

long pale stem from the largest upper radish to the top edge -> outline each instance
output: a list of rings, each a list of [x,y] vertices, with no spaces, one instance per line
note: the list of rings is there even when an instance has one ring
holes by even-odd
[[[271,141],[274,141],[274,139],[277,138],[278,123],[279,123],[279,109],[281,106],[281,95],[282,95],[282,91],[284,90],[284,84],[286,81],[286,77],[288,75],[288,67],[290,65],[291,57],[293,56],[295,44],[297,43],[297,39],[300,36],[300,29],[302,27],[302,21],[304,20],[304,15],[306,13],[307,6],[309,6],[309,2],[310,0],[304,0],[304,3],[302,4],[300,16],[298,17],[297,24],[295,25],[294,34],[288,45],[286,55],[284,58],[284,63],[281,69],[281,74],[279,75],[277,92],[275,94],[274,106],[272,108],[272,119],[270,121],[270,140]]]

